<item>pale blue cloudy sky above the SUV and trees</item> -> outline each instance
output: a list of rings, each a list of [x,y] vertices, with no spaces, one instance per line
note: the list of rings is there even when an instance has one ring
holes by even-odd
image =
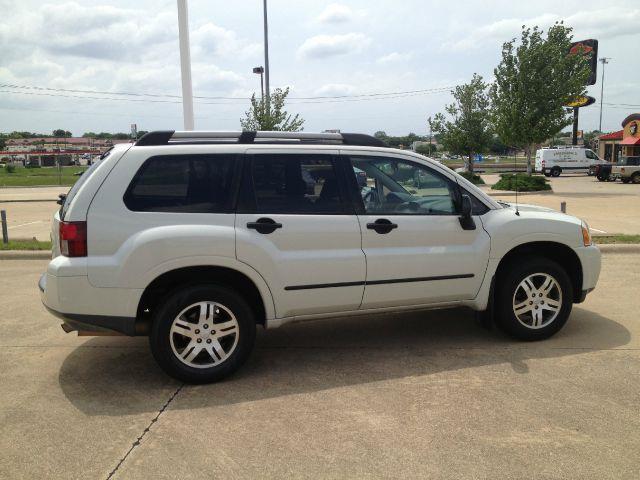
[[[522,25],[599,40],[603,130],[640,111],[640,6],[627,0],[269,0],[271,87],[306,131],[428,133]],[[183,128],[175,0],[0,0],[0,131]],[[195,128],[239,130],[264,64],[262,1],[189,0]],[[601,65],[599,65],[601,67]],[[589,94],[600,101],[600,78]],[[411,93],[401,93],[411,92]],[[384,95],[378,95],[384,94]],[[599,103],[580,128],[598,128]]]

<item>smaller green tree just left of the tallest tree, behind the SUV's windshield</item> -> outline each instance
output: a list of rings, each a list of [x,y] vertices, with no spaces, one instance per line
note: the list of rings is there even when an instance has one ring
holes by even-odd
[[[488,85],[478,74],[469,83],[457,86],[451,94],[454,103],[447,105],[444,114],[429,118],[431,129],[439,136],[445,150],[468,158],[468,170],[473,172],[473,157],[485,152],[493,135],[489,124],[490,101]]]

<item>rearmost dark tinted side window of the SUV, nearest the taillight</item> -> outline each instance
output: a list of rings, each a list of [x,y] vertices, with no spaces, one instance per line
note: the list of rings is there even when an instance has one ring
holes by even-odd
[[[227,213],[235,155],[163,155],[144,162],[124,195],[135,212]]]

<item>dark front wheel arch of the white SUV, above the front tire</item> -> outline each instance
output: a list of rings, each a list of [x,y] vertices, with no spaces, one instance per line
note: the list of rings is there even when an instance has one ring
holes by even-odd
[[[535,241],[522,243],[509,250],[498,263],[495,278],[500,276],[512,263],[522,256],[538,256],[547,258],[559,264],[569,275],[573,288],[573,301],[578,303],[582,294],[582,263],[573,249],[563,243],[550,241]]]

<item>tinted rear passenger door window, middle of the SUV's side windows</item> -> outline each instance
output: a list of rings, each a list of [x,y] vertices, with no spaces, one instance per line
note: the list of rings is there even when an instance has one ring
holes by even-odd
[[[254,155],[252,198],[256,213],[344,213],[338,176],[329,155]]]

